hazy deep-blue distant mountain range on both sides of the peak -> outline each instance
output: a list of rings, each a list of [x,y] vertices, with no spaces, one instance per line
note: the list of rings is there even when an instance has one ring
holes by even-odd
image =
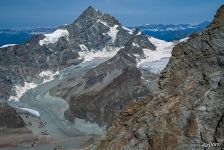
[[[134,30],[139,28],[146,35],[165,40],[175,41],[183,39],[194,32],[201,32],[209,25],[208,21],[198,25],[191,24],[147,24],[129,27]],[[0,46],[6,44],[22,44],[33,35],[51,33],[56,28],[24,28],[24,29],[0,29]]]

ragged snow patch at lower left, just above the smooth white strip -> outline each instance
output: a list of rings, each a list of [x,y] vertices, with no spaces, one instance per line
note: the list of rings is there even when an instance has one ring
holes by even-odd
[[[21,85],[16,85],[15,88],[15,92],[16,92],[16,96],[10,96],[9,97],[9,101],[14,100],[14,101],[19,101],[19,99],[23,96],[23,94],[25,94],[28,90],[33,89],[37,87],[37,84],[33,83],[33,82],[25,82],[24,86]]]

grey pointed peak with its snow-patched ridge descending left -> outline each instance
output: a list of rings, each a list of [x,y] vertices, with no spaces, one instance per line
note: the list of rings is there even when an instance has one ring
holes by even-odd
[[[83,62],[81,53],[120,49],[132,34],[114,17],[90,6],[75,22],[51,34],[35,35],[27,43],[1,48],[0,98],[6,100],[15,94],[14,85],[36,82],[41,71],[56,72]]]

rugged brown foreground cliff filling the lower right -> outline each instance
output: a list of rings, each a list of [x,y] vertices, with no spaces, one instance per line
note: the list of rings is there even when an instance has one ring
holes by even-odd
[[[160,90],[128,105],[99,149],[202,149],[224,142],[224,6],[174,47]],[[220,148],[220,147],[219,147]]]

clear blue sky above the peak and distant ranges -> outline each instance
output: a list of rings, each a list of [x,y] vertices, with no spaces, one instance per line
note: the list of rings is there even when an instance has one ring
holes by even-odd
[[[212,20],[224,0],[0,0],[0,28],[57,27],[73,22],[89,5],[126,26]]]

